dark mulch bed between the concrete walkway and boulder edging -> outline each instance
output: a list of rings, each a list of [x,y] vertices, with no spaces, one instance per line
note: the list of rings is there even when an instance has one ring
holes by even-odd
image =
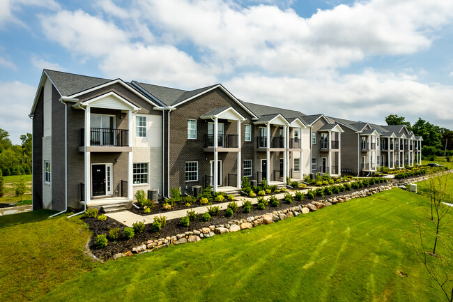
[[[376,183],[373,186],[369,186],[368,188],[374,188],[377,186],[383,186],[387,183]],[[364,190],[364,188],[360,188],[358,190]],[[298,206],[300,204],[308,204],[309,202],[313,201],[320,201],[320,200],[325,200],[328,198],[332,197],[337,197],[341,195],[349,195],[352,192],[358,191],[358,190],[351,190],[351,191],[345,191],[345,192],[340,192],[339,194],[332,194],[332,195],[325,195],[325,197],[314,197],[314,199],[308,199],[307,197],[304,197],[302,201],[298,200],[293,200],[291,204],[285,204],[283,199],[279,199],[279,206],[277,207],[272,207],[270,204],[266,206],[266,209],[264,210],[259,210],[256,207],[256,204],[252,205],[252,211],[250,213],[243,213],[242,211],[242,202],[240,200],[236,200],[238,205],[240,206],[239,209],[233,213],[233,216],[231,217],[225,217],[225,211],[222,210],[217,216],[212,216],[210,221],[208,222],[201,222],[199,218],[201,215],[198,216],[197,220],[191,221],[189,227],[182,227],[179,225],[179,219],[174,219],[174,220],[167,220],[167,225],[165,227],[162,227],[159,233],[155,233],[151,231],[151,225],[145,225],[144,232],[135,234],[134,238],[132,239],[125,239],[122,234],[123,234],[123,229],[125,228],[125,225],[123,225],[121,222],[118,222],[112,218],[107,218],[105,221],[100,221],[97,218],[89,218],[89,217],[84,217],[82,218],[86,224],[89,225],[91,232],[93,232],[93,237],[91,238],[91,241],[89,243],[89,247],[91,249],[91,252],[93,252],[93,255],[96,257],[107,260],[107,259],[112,259],[112,257],[119,253],[119,252],[127,252],[128,250],[132,250],[132,248],[135,248],[136,246],[141,245],[142,243],[148,241],[148,240],[154,240],[154,239],[160,239],[160,238],[165,238],[167,236],[175,236],[176,234],[183,234],[187,231],[193,231],[194,229],[201,229],[202,227],[208,227],[209,225],[224,225],[228,223],[231,220],[241,220],[245,219],[250,216],[259,216],[263,215],[265,213],[270,213],[272,211],[281,211],[284,209],[288,209],[289,207],[293,206]],[[240,197],[238,197],[240,198]],[[216,202],[213,203],[213,206],[215,206]],[[194,206],[199,206],[199,204],[195,204]],[[186,206],[183,205],[181,209],[190,209]],[[136,210],[137,211],[137,210]],[[143,212],[143,210],[139,210]],[[135,212],[135,211],[134,211]],[[135,212],[136,213],[136,212]],[[159,212],[157,212],[159,213]],[[165,216],[165,212],[161,212],[162,216]],[[147,214],[149,215],[149,214]],[[116,242],[109,241],[108,245],[105,248],[98,249],[95,246],[95,239],[98,234],[108,234],[109,229],[112,227],[119,227],[120,229],[120,238],[116,240]]]

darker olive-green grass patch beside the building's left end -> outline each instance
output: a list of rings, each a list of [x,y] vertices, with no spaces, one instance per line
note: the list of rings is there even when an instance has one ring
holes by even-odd
[[[89,229],[54,211],[0,216],[0,301],[29,301],[90,271],[83,248]]]

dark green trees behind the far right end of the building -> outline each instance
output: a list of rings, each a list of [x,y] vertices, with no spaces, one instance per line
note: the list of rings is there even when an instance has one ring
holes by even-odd
[[[422,156],[430,158],[432,156],[444,156],[445,142],[447,142],[446,156],[453,156],[453,131],[447,128],[424,121],[420,117],[413,125],[405,121],[404,116],[390,114],[385,117],[387,125],[401,125],[404,124],[408,130],[412,130],[414,135],[421,136],[422,142]]]

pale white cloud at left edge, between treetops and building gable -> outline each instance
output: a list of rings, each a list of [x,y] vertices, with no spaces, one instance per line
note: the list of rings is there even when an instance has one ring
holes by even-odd
[[[0,128],[10,133],[13,143],[20,142],[20,135],[31,133],[28,114],[35,97],[36,88],[22,82],[0,82],[1,103],[8,110],[0,110]]]

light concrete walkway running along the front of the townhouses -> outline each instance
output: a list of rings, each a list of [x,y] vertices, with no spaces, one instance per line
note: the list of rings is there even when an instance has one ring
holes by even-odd
[[[304,194],[307,193],[307,191],[308,191],[307,188],[300,190],[300,192],[303,192]],[[294,195],[295,191],[288,190],[288,192],[291,192],[291,194]],[[284,192],[275,194],[275,197],[277,197],[278,199],[283,199]],[[265,198],[269,198],[269,195],[265,196]],[[242,197],[242,196],[236,197],[236,199],[234,201],[238,203],[238,206],[242,206],[243,201],[247,201],[247,200],[249,202],[252,202],[252,204],[258,203],[256,198]],[[229,204],[229,202],[222,202],[222,203],[218,203],[218,204],[217,203],[212,204],[212,206],[218,206],[220,210],[224,210],[224,209],[227,209],[228,204]],[[196,213],[202,214],[202,213],[206,213],[208,211],[208,206],[198,206],[197,208],[192,208],[192,209],[187,208],[187,209],[178,210],[178,211],[168,211],[168,212],[151,214],[151,215],[146,215],[146,216],[141,216],[141,215],[132,213],[130,211],[107,213],[105,215],[110,218],[113,218],[114,220],[117,220],[118,222],[123,223],[123,225],[132,227],[132,223],[135,223],[137,221],[144,221],[145,225],[153,223],[154,218],[156,216],[167,216],[167,220],[178,219],[178,218],[186,216],[188,210],[194,210]]]

